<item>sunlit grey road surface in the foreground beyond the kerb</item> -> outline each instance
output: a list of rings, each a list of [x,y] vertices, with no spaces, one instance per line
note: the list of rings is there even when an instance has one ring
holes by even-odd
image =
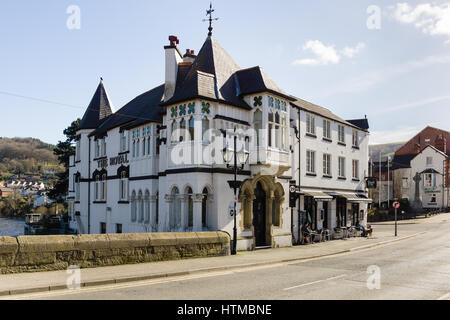
[[[392,226],[383,227],[391,228]],[[401,227],[414,228],[417,231],[423,228],[420,224],[405,224]],[[368,273],[368,269],[371,273]],[[230,297],[233,300],[450,299],[449,293],[450,221],[435,224],[431,232],[407,240],[300,263],[280,263],[274,266],[10,298],[64,300],[229,300]]]

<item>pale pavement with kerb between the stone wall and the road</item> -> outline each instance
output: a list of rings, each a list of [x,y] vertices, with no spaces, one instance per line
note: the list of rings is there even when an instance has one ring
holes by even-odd
[[[374,233],[371,238],[350,238],[306,246],[239,252],[236,256],[197,258],[164,261],[135,265],[120,265],[82,269],[82,288],[106,285],[139,283],[154,280],[163,281],[172,277],[205,275],[258,267],[277,267],[283,263],[313,261],[314,259],[340,257],[349,253],[364,253],[371,248],[382,248],[408,239],[423,237],[436,226],[450,221],[450,213],[426,219],[403,220],[398,226],[398,237],[394,236],[392,222],[371,223]],[[67,290],[67,271],[36,272],[0,275],[0,296],[11,296],[59,292]],[[333,278],[333,277],[331,277]]]

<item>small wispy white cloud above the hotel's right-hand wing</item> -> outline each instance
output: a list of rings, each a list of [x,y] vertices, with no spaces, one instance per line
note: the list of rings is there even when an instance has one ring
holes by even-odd
[[[335,49],[334,45],[325,45],[319,40],[309,40],[303,45],[303,50],[311,51],[315,57],[297,59],[293,62],[293,64],[305,66],[326,66],[329,64],[338,64],[341,61],[342,56],[353,58],[364,48],[365,44],[360,42],[355,47],[347,46],[338,51]]]

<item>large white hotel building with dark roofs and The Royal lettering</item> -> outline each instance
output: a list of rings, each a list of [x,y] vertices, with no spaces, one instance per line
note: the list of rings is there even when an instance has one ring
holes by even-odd
[[[291,246],[300,213],[331,232],[366,222],[366,119],[345,121],[285,93],[260,67],[238,67],[212,35],[198,55],[182,55],[177,45],[170,37],[164,48],[164,83],[117,112],[99,84],[71,158],[74,229],[232,235],[234,176],[222,149],[223,130],[232,147],[235,128],[243,132],[239,150],[250,153],[237,176],[238,250]],[[291,180],[301,193],[292,212]]]

